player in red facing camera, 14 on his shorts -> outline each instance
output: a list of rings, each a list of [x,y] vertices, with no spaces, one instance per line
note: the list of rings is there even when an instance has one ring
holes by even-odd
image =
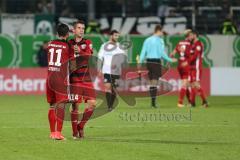
[[[69,40],[71,46],[71,59],[75,59],[76,68],[70,75],[71,99],[73,109],[71,113],[73,138],[84,137],[84,126],[93,114],[96,106],[96,93],[89,73],[89,58],[92,56],[92,42],[83,38],[85,24],[79,20],[73,26],[74,39]],[[78,121],[78,106],[84,100],[87,107],[81,121]]]

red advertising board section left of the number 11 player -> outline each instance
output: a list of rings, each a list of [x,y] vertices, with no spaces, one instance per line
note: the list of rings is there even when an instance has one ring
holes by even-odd
[[[39,95],[46,90],[46,68],[0,69],[0,95]]]

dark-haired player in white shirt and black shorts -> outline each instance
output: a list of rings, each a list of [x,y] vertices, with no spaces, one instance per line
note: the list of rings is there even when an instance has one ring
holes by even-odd
[[[123,64],[127,62],[126,50],[118,42],[119,35],[118,31],[111,31],[109,41],[102,44],[98,53],[100,60],[98,68],[99,73],[104,75],[104,87],[109,111],[113,109],[116,98],[116,80],[121,77]]]

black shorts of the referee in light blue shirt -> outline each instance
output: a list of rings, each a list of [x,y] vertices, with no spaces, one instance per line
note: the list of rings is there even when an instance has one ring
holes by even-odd
[[[150,80],[158,80],[162,75],[160,59],[147,59],[148,77]]]

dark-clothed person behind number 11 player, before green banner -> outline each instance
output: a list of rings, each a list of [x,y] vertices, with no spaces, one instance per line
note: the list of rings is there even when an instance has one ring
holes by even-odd
[[[48,47],[48,42],[44,41],[43,45],[40,47],[37,53],[37,63],[40,67],[46,67],[48,65],[47,47]]]

